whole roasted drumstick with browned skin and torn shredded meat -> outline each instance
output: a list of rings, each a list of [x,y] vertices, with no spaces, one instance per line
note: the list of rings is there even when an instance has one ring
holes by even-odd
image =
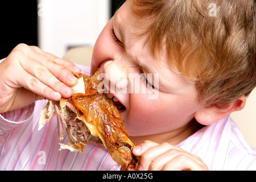
[[[60,150],[82,152],[87,143],[104,144],[112,159],[123,169],[138,169],[139,158],[132,154],[135,144],[131,141],[117,107],[102,91],[99,71],[94,76],[79,75],[84,82],[84,93],[71,98],[49,100],[39,120],[41,129],[57,112],[59,138],[67,131],[70,142],[60,144]],[[55,109],[56,107],[56,109]]]

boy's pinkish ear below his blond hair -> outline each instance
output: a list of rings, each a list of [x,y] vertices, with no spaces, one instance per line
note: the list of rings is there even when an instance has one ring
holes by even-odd
[[[234,111],[243,109],[243,107],[245,106],[245,102],[246,97],[242,95],[240,98],[233,102],[230,102],[224,107],[218,107],[217,105],[212,105],[209,107],[202,106],[199,110],[196,111],[195,119],[202,125],[210,125],[216,121],[225,118]]]

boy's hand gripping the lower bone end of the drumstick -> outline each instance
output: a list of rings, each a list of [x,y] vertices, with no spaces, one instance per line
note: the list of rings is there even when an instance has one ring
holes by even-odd
[[[133,154],[141,156],[139,170],[208,170],[198,156],[168,143],[146,140],[134,148]]]

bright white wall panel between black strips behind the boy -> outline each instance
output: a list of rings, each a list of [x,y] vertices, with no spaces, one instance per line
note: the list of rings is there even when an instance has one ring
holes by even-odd
[[[38,46],[59,57],[93,46],[109,19],[109,0],[38,0]]]

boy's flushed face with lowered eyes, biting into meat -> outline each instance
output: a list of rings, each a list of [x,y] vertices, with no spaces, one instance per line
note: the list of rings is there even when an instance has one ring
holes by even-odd
[[[155,60],[150,46],[145,44],[147,35],[135,36],[139,27],[134,24],[130,1],[126,1],[98,37],[91,71],[94,73],[100,68],[105,81],[108,75],[105,88],[125,106],[120,113],[129,135],[152,135],[185,128],[200,107],[195,84],[185,81],[170,69],[165,49],[160,59]],[[131,79],[141,73],[147,76],[154,89],[150,89],[143,79],[137,83]],[[152,81],[148,73],[152,73]],[[136,90],[138,85],[139,93]],[[117,92],[121,88],[125,91]],[[144,89],[146,92],[142,91]]]

